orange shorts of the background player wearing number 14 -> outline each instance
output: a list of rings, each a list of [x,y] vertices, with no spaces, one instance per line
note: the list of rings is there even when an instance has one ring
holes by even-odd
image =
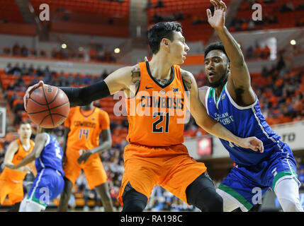
[[[91,155],[89,159],[86,160],[86,163],[82,163],[81,165],[77,162],[80,156],[79,150],[67,148],[66,156],[67,161],[64,165],[64,176],[67,177],[72,184],[75,184],[81,169],[84,170],[89,189],[94,189],[96,186],[107,181],[108,177],[98,153]]]

